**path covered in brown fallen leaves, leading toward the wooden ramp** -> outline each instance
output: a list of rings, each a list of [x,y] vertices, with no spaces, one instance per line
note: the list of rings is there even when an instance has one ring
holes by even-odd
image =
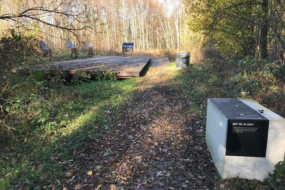
[[[100,138],[64,166],[67,189],[213,189],[205,124],[175,80],[168,68],[148,70]]]

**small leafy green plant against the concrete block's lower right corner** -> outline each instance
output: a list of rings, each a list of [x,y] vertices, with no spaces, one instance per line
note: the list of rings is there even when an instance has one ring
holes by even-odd
[[[274,173],[269,173],[270,179],[266,178],[265,182],[270,183],[274,189],[285,189],[285,162],[280,161],[273,170]]]

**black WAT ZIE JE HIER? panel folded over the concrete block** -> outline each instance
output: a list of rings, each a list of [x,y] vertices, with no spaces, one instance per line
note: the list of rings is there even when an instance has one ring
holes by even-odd
[[[269,120],[237,98],[210,98],[227,117],[226,156],[266,156]]]

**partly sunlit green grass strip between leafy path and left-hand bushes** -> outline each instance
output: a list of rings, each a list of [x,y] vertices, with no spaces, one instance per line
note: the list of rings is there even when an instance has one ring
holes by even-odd
[[[32,130],[32,124],[23,115],[22,120],[17,120],[27,125],[25,132],[16,133],[3,143],[0,189],[14,189],[18,184],[26,184],[27,190],[36,185],[48,186],[47,175],[60,179],[62,167],[52,164],[51,157],[70,160],[74,148],[80,150],[99,135],[97,129],[108,122],[106,111],[116,112],[137,80],[92,81],[74,88],[64,87],[62,91],[52,90],[45,99],[49,101],[46,104],[54,108],[53,125]],[[39,165],[43,168],[39,169]]]

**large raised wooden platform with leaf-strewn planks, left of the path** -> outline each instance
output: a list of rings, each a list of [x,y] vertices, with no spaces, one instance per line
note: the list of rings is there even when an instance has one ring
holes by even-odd
[[[94,71],[115,72],[117,78],[139,77],[149,64],[149,57],[94,56],[92,58],[54,62],[48,65],[38,65],[35,71],[46,71],[46,75],[60,74],[72,77],[78,70],[95,77]],[[17,70],[24,72],[22,69]]]

